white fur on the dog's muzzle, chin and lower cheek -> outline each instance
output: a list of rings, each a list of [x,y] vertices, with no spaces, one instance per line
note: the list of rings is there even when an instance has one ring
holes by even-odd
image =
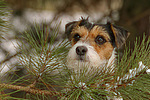
[[[76,48],[78,46],[85,46],[88,49],[85,55],[85,61],[81,61],[77,59],[78,55],[76,54]],[[113,66],[114,60],[115,60],[115,50],[112,52],[112,56],[107,61],[107,60],[101,59],[101,57],[95,51],[94,47],[90,46],[89,43],[79,41],[70,49],[68,53],[67,66],[69,68],[74,68],[75,70],[82,66],[110,67],[110,66]]]

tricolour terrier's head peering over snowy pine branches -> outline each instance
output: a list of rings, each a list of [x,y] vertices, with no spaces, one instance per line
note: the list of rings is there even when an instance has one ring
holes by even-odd
[[[65,34],[71,41],[72,48],[67,56],[67,66],[112,67],[115,49],[120,48],[129,36],[129,32],[121,27],[107,24],[93,24],[88,18],[69,22],[65,26]]]

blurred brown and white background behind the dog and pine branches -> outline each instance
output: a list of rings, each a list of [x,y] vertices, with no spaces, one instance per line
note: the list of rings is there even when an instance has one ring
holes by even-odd
[[[4,1],[4,0],[3,0]],[[127,42],[134,46],[136,37],[150,36],[150,0],[5,0],[7,16],[2,20],[9,22],[7,32],[0,39],[1,73],[17,63],[18,45],[22,45],[16,36],[29,29],[34,23],[43,29],[49,26],[49,34],[56,25],[59,34],[57,41],[65,39],[65,24],[88,17],[94,23],[106,24],[107,21],[122,26],[131,34]],[[2,28],[1,28],[2,30]],[[127,44],[128,45],[128,44]],[[7,64],[6,64],[7,63]]]

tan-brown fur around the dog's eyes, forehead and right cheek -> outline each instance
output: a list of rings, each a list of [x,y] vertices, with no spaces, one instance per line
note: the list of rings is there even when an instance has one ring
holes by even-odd
[[[81,36],[80,41],[87,42],[95,48],[96,52],[99,54],[101,59],[109,60],[114,48],[109,42],[110,37],[108,33],[101,26],[96,25],[91,30],[88,30],[84,26],[77,26],[71,32],[72,37],[76,33],[78,33]],[[107,42],[105,42],[102,45],[98,45],[97,43],[95,43],[95,38],[98,35],[103,36]],[[71,38],[71,41],[72,46],[76,44],[73,38]]]

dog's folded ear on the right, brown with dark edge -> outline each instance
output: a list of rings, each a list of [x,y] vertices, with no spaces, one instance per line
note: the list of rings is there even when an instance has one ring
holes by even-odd
[[[111,23],[107,23],[107,25],[110,26],[111,31],[114,34],[115,44],[117,48],[120,48],[126,42],[130,33],[122,27],[112,25]]]

